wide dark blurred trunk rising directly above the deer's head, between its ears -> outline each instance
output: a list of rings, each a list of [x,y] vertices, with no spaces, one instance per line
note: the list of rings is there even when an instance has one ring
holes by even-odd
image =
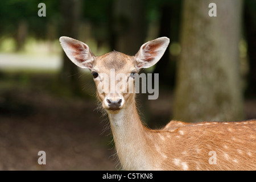
[[[135,55],[146,39],[145,0],[119,0],[114,3],[115,51]]]

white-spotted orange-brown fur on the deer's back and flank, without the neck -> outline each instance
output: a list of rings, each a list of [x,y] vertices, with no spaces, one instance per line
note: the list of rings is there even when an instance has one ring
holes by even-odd
[[[176,125],[178,123],[178,125]],[[163,169],[174,170],[255,170],[256,121],[184,123],[171,121],[169,130],[159,131]],[[166,131],[167,130],[167,131]],[[210,151],[217,163],[209,164]],[[176,161],[177,162],[175,163]],[[183,163],[183,165],[182,165]]]

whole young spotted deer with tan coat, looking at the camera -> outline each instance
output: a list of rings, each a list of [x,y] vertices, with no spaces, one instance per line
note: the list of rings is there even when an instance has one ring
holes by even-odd
[[[122,91],[134,88],[134,74],[156,64],[169,42],[167,37],[151,40],[144,43],[135,56],[118,51],[95,56],[85,43],[60,37],[66,55],[78,67],[90,70],[96,87],[104,82],[102,75],[110,76],[111,69],[115,76],[124,74],[127,85]],[[116,85],[117,81],[112,84]],[[109,85],[104,85],[105,89]],[[256,170],[255,119],[170,121],[162,129],[152,130],[141,121],[135,92],[100,92],[99,89],[96,92],[108,113],[115,150],[124,170]]]

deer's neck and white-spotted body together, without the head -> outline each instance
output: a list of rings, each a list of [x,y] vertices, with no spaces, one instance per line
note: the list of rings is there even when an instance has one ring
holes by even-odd
[[[127,170],[256,169],[256,121],[171,121],[162,130],[149,130],[135,106],[109,114],[109,119],[118,158]],[[209,164],[211,151],[216,164]]]

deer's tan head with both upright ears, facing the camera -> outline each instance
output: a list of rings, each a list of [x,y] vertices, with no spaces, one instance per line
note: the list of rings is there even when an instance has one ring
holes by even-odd
[[[142,68],[156,64],[169,44],[166,37],[144,43],[135,56],[113,51],[102,56],[94,56],[89,46],[72,38],[60,38],[69,59],[80,68],[92,72],[97,88],[97,97],[110,113],[117,113],[134,98],[134,74]],[[118,85],[118,82],[122,84]]]

